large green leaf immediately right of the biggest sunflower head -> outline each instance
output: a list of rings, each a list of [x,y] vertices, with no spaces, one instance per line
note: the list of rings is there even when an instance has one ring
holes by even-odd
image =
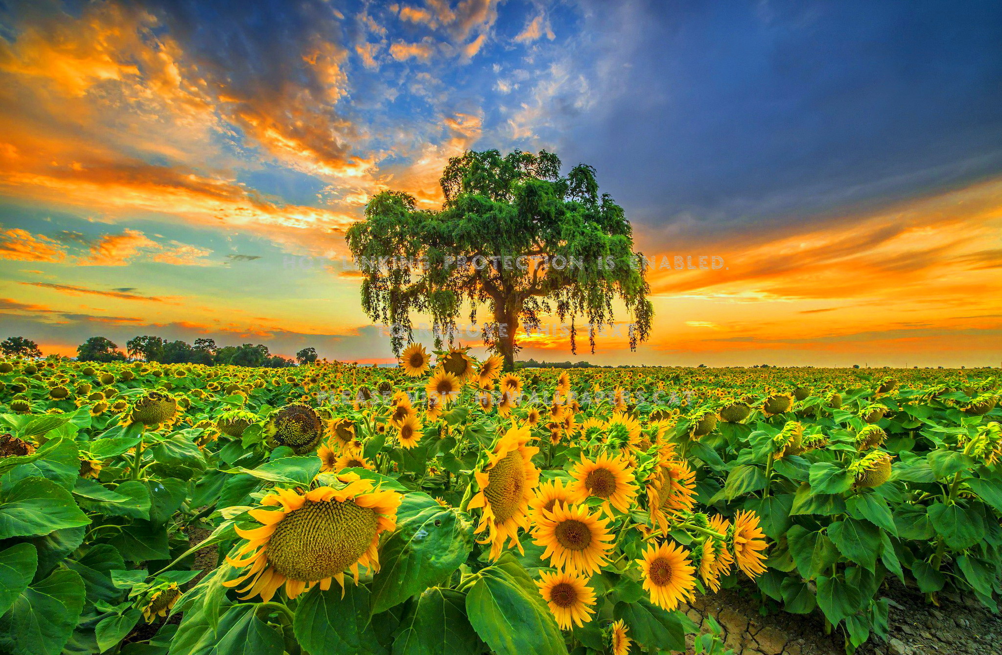
[[[466,561],[473,550],[473,526],[466,516],[436,504],[386,539],[380,548],[380,572],[373,579],[373,614],[421,593]]]

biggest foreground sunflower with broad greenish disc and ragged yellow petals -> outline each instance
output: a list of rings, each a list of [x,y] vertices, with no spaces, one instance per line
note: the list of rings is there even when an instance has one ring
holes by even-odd
[[[374,489],[372,480],[357,475],[339,480],[346,483],[341,489],[318,487],[303,496],[277,488],[262,505],[280,507],[278,511],[249,510],[263,525],[237,528],[236,534],[247,543],[235,557],[226,557],[231,566],[249,568],[223,584],[236,587],[245,582],[238,590],[244,594],[241,598],[260,595],[268,602],[283,584],[289,598],[296,598],[317,583],[327,590],[337,580],[344,588],[345,571],[351,571],[357,583],[360,566],[378,571],[379,535],[396,527],[402,496]]]

